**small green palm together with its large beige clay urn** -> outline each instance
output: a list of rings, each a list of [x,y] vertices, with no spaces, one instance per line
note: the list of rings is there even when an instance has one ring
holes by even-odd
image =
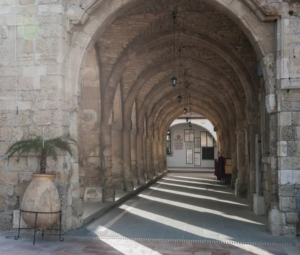
[[[57,188],[53,182],[54,174],[46,173],[46,159],[51,156],[57,161],[59,153],[68,153],[72,157],[71,145],[77,142],[68,134],[55,138],[45,139],[43,135],[30,135],[11,144],[7,149],[8,158],[14,154],[22,155],[34,153],[39,157],[39,173],[32,173],[32,180],[23,195],[21,210],[22,218],[27,225],[34,228],[48,228],[58,219],[59,213],[35,213],[56,212],[60,210],[60,199]],[[36,220],[36,224],[35,224]]]

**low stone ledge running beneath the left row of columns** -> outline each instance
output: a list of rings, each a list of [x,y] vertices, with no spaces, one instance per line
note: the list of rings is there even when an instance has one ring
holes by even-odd
[[[101,216],[104,214],[107,210],[110,208],[122,203],[123,201],[127,200],[131,196],[135,195],[136,193],[139,193],[141,190],[144,188],[148,187],[161,177],[163,177],[168,171],[165,170],[164,172],[160,173],[158,176],[154,177],[153,179],[148,179],[145,184],[142,185],[134,185],[134,190],[133,191],[116,191],[116,199],[115,202],[104,202],[104,203],[83,203],[83,208],[91,205],[89,207],[89,210],[92,210],[92,212],[83,212],[83,225],[86,224],[87,222],[91,221],[92,219]],[[95,206],[92,206],[95,205]],[[96,209],[97,207],[99,209]]]

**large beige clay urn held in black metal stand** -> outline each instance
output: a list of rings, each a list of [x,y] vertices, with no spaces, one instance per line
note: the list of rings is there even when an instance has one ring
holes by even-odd
[[[37,212],[56,212],[60,210],[60,199],[53,181],[52,173],[32,173],[21,204],[21,210]],[[25,223],[34,228],[35,213],[21,212]],[[59,218],[59,213],[37,213],[36,229],[49,228]]]

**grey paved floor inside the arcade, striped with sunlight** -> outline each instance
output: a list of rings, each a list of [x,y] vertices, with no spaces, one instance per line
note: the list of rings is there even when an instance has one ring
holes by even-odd
[[[286,243],[212,173],[168,173],[138,195],[66,236]],[[92,232],[95,231],[95,232]]]

